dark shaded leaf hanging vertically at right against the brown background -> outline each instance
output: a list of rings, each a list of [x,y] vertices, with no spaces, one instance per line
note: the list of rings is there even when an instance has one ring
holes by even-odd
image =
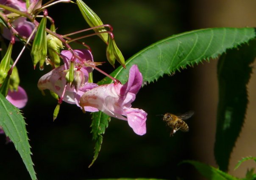
[[[248,104],[250,64],[256,57],[256,41],[228,50],[218,62],[219,103],[214,155],[223,171],[228,170],[232,149],[242,129]]]

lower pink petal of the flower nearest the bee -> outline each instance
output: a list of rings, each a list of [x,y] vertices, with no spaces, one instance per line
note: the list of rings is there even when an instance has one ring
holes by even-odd
[[[146,134],[147,113],[137,108],[129,108],[125,110],[129,126],[138,135]]]

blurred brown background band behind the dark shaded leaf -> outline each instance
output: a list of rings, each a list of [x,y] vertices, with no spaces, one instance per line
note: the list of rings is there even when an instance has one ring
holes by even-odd
[[[196,29],[206,27],[256,27],[256,1],[254,0],[195,0],[193,3],[192,24]],[[245,177],[247,169],[255,167],[254,161],[244,162],[237,170],[237,162],[246,156],[256,156],[255,117],[256,117],[256,74],[255,63],[253,74],[248,84],[248,110],[245,124],[231,154],[229,173],[236,177]],[[195,67],[197,81],[194,89],[197,96],[193,97],[196,105],[198,129],[194,151],[199,160],[217,167],[213,156],[216,111],[217,111],[217,60]],[[195,99],[194,99],[195,98]],[[200,119],[200,120],[198,120]],[[201,148],[201,147],[204,148]]]

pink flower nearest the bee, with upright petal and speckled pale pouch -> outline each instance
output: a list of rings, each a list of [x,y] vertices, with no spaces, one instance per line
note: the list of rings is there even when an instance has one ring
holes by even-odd
[[[80,105],[92,106],[109,116],[126,120],[136,134],[143,135],[146,133],[147,113],[131,107],[141,86],[142,74],[137,65],[133,65],[127,83],[124,85],[111,83],[95,87],[82,95]]]

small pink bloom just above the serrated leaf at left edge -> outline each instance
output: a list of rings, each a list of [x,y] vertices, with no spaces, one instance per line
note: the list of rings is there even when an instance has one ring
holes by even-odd
[[[25,107],[28,102],[26,91],[20,86],[17,91],[9,90],[6,99],[17,108]]]

